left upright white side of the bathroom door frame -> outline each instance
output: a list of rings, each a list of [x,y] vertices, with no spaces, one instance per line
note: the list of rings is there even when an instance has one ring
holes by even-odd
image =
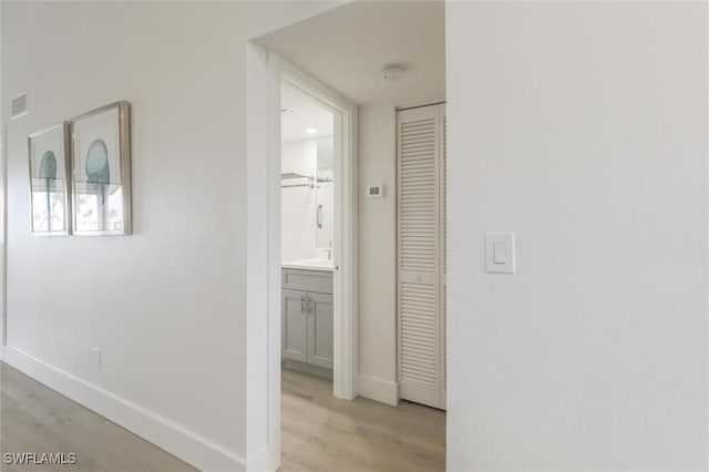
[[[244,458],[246,470],[275,471],[280,465],[280,369],[271,365],[280,356],[280,319],[274,325],[268,314],[274,304],[280,305],[280,298],[274,300],[268,287],[273,267],[280,265],[280,250],[269,252],[273,234],[279,233],[271,230],[273,225],[280,222],[268,214],[269,188],[279,183],[274,182],[266,156],[268,123],[280,113],[274,116],[268,109],[273,102],[268,51],[251,42],[246,47],[246,332],[240,340],[246,357]]]

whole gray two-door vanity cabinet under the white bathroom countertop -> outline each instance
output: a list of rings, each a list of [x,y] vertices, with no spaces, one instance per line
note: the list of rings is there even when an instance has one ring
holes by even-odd
[[[281,355],[332,369],[332,273],[282,269]]]

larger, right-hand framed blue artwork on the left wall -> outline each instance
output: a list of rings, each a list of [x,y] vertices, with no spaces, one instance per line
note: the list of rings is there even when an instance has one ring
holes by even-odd
[[[70,133],[73,234],[130,235],[129,103],[112,103],[73,119]]]

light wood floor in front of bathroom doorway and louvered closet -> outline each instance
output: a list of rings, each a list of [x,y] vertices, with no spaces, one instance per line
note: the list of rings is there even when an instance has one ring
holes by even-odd
[[[445,469],[445,413],[401,401],[332,397],[332,382],[284,369],[280,471],[413,472]]]

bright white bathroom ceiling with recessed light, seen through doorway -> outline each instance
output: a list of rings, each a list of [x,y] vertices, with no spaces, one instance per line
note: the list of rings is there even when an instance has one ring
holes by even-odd
[[[280,140],[291,142],[331,136],[333,133],[332,112],[325,109],[311,96],[282,82],[280,86]],[[310,129],[310,133],[306,130]]]

